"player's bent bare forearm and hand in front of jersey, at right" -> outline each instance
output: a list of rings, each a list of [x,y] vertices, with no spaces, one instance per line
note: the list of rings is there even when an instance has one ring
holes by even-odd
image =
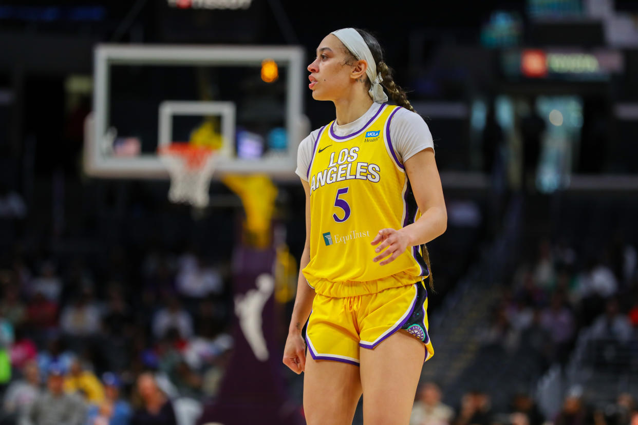
[[[374,261],[376,263],[383,260],[380,263],[382,266],[394,261],[408,247],[427,243],[447,229],[447,210],[441,178],[434,161],[434,150],[421,150],[407,159],[403,166],[408,173],[421,217],[402,229],[381,229],[376,234],[371,243],[381,244],[375,249],[380,254]]]

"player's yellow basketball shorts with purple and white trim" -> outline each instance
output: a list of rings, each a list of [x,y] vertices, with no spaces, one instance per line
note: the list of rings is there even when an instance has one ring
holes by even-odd
[[[361,348],[375,349],[399,329],[424,343],[424,361],[434,355],[427,335],[427,290],[423,282],[345,298],[316,294],[306,343],[315,360],[359,366]]]

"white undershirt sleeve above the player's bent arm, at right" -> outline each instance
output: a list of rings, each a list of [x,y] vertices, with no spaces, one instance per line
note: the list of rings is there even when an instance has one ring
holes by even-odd
[[[405,108],[399,109],[390,121],[390,139],[401,163],[424,149],[434,150],[434,141],[426,122],[418,113]]]

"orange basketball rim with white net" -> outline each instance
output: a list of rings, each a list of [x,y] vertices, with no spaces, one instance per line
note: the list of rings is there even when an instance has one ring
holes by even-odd
[[[199,208],[207,206],[216,150],[189,143],[171,143],[159,148],[159,157],[170,174],[168,199]]]

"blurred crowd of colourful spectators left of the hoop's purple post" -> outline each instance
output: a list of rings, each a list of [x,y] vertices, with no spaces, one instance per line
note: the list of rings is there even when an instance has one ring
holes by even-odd
[[[3,264],[0,424],[195,422],[233,347],[228,272],[190,250],[147,252],[138,266],[110,256],[105,285],[79,258]]]

